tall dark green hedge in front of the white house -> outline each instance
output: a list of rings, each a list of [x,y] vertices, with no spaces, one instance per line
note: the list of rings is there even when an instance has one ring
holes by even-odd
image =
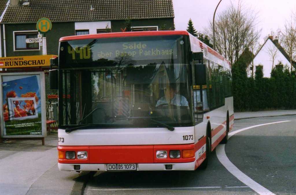
[[[239,65],[232,68],[234,111],[262,111],[296,108],[296,72],[281,63],[263,78],[262,68],[257,67],[255,78],[247,77]]]

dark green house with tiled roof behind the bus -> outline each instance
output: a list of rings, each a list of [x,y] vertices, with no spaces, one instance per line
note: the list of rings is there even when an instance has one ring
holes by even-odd
[[[172,0],[0,0],[0,57],[42,55],[41,44],[26,43],[40,34],[36,22],[48,18],[47,54],[58,54],[59,38],[132,31],[173,30]]]

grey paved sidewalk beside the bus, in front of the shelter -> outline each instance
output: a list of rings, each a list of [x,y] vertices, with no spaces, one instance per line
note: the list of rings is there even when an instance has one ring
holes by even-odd
[[[69,195],[80,176],[57,167],[57,132],[41,140],[4,140],[0,144],[0,194]]]

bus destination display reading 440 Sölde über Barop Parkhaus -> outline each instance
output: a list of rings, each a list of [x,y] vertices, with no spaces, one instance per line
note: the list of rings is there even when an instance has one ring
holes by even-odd
[[[99,59],[152,60],[177,58],[176,40],[151,40],[134,42],[104,42],[90,44],[71,44],[66,47],[67,60],[76,62]],[[65,50],[65,48],[62,48]]]

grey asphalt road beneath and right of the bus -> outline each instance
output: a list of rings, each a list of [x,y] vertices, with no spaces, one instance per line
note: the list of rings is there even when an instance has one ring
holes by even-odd
[[[289,122],[281,122],[281,121]],[[236,120],[225,145],[228,158],[242,174],[274,194],[296,194],[296,117]],[[221,145],[220,145],[221,146]],[[220,147],[219,146],[219,147]],[[206,170],[163,172],[96,172],[84,189],[91,194],[260,194],[210,156]],[[249,185],[249,186],[248,186]],[[262,194],[262,193],[261,193]]]

